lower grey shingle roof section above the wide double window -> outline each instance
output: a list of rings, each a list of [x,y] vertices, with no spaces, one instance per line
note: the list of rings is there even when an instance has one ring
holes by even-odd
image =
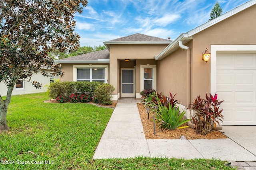
[[[98,61],[98,60],[104,60],[104,59],[109,59],[109,51],[108,49],[104,49],[101,51],[95,51],[92,53],[87,53],[87,54],[82,54],[82,55],[77,55],[74,57],[69,57],[66,59],[60,59],[56,61],[57,63],[64,63],[63,61]],[[66,63],[66,62],[65,62]]]

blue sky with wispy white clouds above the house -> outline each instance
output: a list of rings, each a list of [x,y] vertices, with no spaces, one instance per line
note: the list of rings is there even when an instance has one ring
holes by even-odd
[[[218,0],[224,13],[249,0]],[[206,23],[216,0],[88,0],[76,14],[81,46],[142,33],[171,40]]]

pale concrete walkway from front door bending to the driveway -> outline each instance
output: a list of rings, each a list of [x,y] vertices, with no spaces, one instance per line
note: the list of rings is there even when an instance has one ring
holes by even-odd
[[[247,166],[250,170],[256,170],[256,127],[252,127],[253,134],[246,136],[248,133],[245,131],[248,130],[243,131],[239,127],[232,130],[232,127],[224,126],[222,131],[228,139],[146,139],[137,102],[140,101],[127,98],[118,101],[94,153],[94,159],[136,156],[215,158],[232,161],[232,166],[236,164],[239,170],[248,169]],[[237,136],[239,129],[244,136]]]

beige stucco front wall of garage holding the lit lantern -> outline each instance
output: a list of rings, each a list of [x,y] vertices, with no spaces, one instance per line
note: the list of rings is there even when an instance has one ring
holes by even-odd
[[[191,100],[210,93],[210,62],[202,61],[202,53],[211,45],[256,44],[256,5],[239,12],[193,35],[191,53]]]

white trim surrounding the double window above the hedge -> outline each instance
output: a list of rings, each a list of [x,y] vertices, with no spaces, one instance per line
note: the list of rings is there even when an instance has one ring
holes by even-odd
[[[104,83],[108,82],[108,65],[73,65],[73,81],[77,82],[77,68],[90,68],[90,74],[92,74],[91,69],[93,68],[105,68],[104,72],[105,72],[105,80]],[[91,78],[91,75],[90,75]],[[95,81],[97,81],[98,79],[95,79]],[[90,80],[89,80],[90,81]]]

